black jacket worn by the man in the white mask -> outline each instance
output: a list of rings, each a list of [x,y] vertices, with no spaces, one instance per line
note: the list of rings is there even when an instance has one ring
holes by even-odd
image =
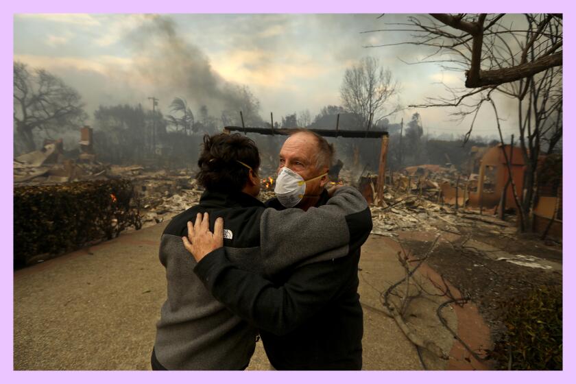
[[[325,193],[317,205],[326,202]],[[288,211],[277,200],[268,205]],[[366,206],[345,219],[350,239],[345,257],[305,261],[264,278],[235,267],[221,248],[195,268],[215,298],[259,328],[268,359],[277,370],[362,368],[363,313],[357,269],[360,246],[372,229],[370,209]],[[320,228],[326,226],[315,222]],[[312,245],[298,239],[299,228],[276,230],[295,233],[291,247],[296,252]]]

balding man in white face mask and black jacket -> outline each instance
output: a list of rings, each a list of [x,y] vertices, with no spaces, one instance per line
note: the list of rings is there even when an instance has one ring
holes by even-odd
[[[277,198],[267,206],[284,212],[294,211],[287,207],[296,206],[309,212],[326,204],[328,193],[324,186],[331,157],[331,146],[322,136],[307,130],[289,136],[280,149]],[[298,179],[299,182],[292,182]],[[305,188],[300,184],[302,180]],[[346,217],[351,231],[346,257],[308,261],[280,270],[269,280],[230,263],[224,248],[219,248],[219,234],[212,234],[200,220],[189,227],[189,238],[184,238],[184,244],[198,261],[194,272],[214,297],[259,327],[274,368],[359,370],[363,313],[357,293],[357,269],[360,246],[372,226],[363,228],[357,223],[365,215],[370,215],[368,207]],[[293,235],[299,230],[289,229]],[[308,245],[293,242],[299,250],[306,250]]]

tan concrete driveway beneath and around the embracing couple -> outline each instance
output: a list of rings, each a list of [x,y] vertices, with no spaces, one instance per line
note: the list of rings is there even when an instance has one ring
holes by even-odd
[[[14,370],[149,370],[166,296],[158,261],[166,224],[14,272]],[[404,273],[394,242],[371,235],[362,252],[363,369],[423,369],[416,348],[381,311],[379,292]],[[435,318],[437,302],[416,299],[408,317],[419,333],[450,351],[454,339]],[[455,311],[445,309],[444,316],[451,328],[459,328]],[[473,369],[455,368],[427,352],[423,359],[428,369]],[[248,369],[268,367],[259,342]]]

